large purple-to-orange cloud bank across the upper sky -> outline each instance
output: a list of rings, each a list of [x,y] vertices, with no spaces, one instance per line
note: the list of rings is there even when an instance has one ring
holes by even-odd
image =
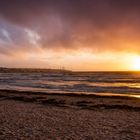
[[[140,44],[139,15],[139,0],[0,1],[0,17],[36,30],[43,48],[80,45],[120,50],[129,46],[132,50],[122,42]]]

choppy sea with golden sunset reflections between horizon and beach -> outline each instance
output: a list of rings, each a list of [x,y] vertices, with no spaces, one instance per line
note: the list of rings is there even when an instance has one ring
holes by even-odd
[[[0,73],[0,90],[140,98],[140,72]]]

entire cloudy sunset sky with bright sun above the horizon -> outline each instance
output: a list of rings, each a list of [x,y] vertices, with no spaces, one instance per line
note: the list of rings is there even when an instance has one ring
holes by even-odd
[[[0,67],[140,70],[140,0],[0,0]]]

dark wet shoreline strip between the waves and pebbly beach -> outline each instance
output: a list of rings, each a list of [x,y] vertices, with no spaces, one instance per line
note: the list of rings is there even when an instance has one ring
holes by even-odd
[[[100,96],[85,94],[57,94],[0,90],[0,100],[13,100],[24,103],[48,104],[56,107],[80,107],[82,109],[122,109],[140,111],[139,98],[130,96]]]

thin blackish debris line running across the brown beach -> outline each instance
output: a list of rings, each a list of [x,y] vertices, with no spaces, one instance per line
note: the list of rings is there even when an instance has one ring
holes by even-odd
[[[53,97],[53,95],[52,95]],[[55,96],[54,96],[55,97]],[[22,102],[29,102],[29,103],[40,103],[43,105],[52,105],[52,106],[58,106],[58,107],[70,107],[70,106],[76,106],[80,107],[82,109],[121,109],[121,110],[128,110],[128,111],[140,111],[139,106],[131,106],[131,105],[125,105],[125,104],[104,104],[104,103],[93,103],[92,101],[76,101],[67,103],[64,99],[55,99],[55,98],[48,98],[48,96],[38,96],[38,95],[24,95],[24,94],[0,94],[0,100],[15,100],[15,101],[22,101]]]

